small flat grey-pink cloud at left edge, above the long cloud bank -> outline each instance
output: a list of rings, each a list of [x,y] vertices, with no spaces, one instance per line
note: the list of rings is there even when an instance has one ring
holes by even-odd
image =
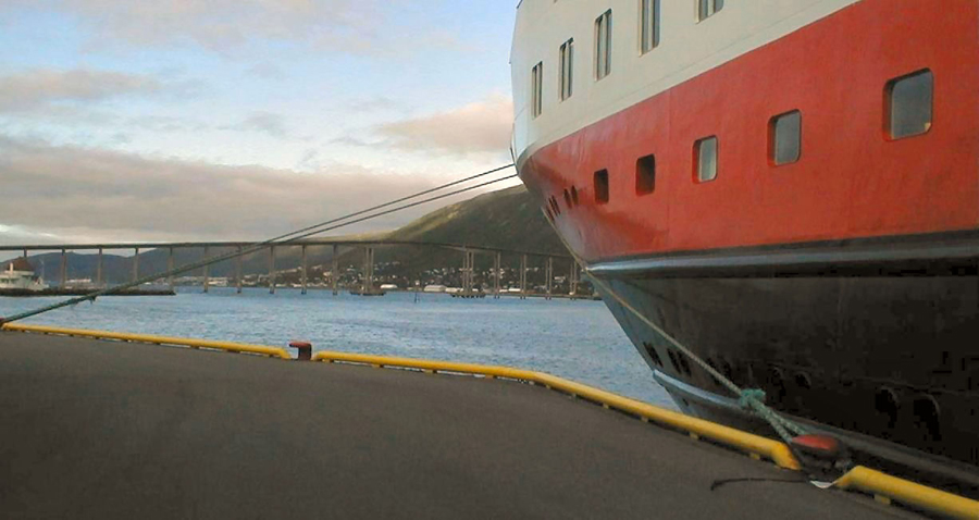
[[[154,96],[174,87],[139,74],[35,69],[0,75],[0,112],[30,112],[124,96]]]

